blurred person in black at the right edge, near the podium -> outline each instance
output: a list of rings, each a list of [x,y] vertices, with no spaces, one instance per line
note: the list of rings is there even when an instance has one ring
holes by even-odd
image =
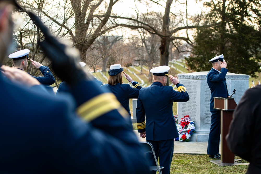
[[[261,172],[261,85],[248,89],[233,113],[226,136],[232,153],[250,162],[247,174]],[[256,135],[256,138],[250,137]]]

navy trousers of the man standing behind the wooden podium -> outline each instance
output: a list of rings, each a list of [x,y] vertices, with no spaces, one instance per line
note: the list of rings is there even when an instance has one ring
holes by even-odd
[[[207,154],[216,155],[217,153],[219,153],[221,116],[220,110],[210,112],[212,115],[209,131],[209,141],[207,144]]]

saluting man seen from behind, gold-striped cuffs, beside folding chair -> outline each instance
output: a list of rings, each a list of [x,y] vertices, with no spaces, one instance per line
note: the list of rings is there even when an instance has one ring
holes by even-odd
[[[172,111],[173,102],[189,100],[185,86],[177,77],[168,74],[169,69],[168,66],[160,66],[150,70],[154,82],[150,87],[140,89],[136,109],[138,132],[153,145],[157,159],[159,157],[159,163],[164,167],[162,174],[170,173],[174,139],[179,137]],[[177,91],[165,86],[167,77],[177,86]],[[149,158],[153,161],[151,165],[156,165],[153,155]]]

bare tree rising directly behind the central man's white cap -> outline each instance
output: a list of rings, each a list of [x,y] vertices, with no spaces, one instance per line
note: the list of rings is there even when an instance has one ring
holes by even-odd
[[[169,59],[169,46],[171,43],[175,44],[176,41],[185,41],[189,45],[193,45],[193,40],[190,39],[189,30],[202,27],[200,21],[202,14],[189,16],[187,10],[187,1],[174,1],[175,3],[183,4],[185,12],[180,9],[171,8],[173,0],[139,0],[138,2],[155,3],[159,7],[164,8],[164,14],[146,13],[140,14],[136,9],[137,15],[134,17],[123,17],[123,16],[110,16],[111,18],[118,19],[119,21],[125,20],[125,22],[118,23],[120,26],[128,27],[131,29],[143,28],[151,34],[156,34],[161,38],[160,50],[160,65],[168,65]],[[165,4],[165,5],[162,5]],[[175,11],[175,13],[173,13]],[[127,21],[127,22],[126,22]],[[155,25],[160,23],[161,25]],[[211,24],[216,25],[216,24]],[[180,35],[183,33],[183,36]]]

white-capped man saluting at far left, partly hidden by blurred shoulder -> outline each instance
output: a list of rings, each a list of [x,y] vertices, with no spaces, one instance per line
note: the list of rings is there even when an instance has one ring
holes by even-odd
[[[39,69],[42,74],[44,75],[43,77],[34,77],[37,79],[41,84],[43,85],[52,85],[55,83],[55,78],[54,75],[52,75],[50,69],[46,66],[43,66],[37,61],[33,61],[32,59],[29,58],[29,52],[30,50],[24,49],[20,51],[16,51],[12,54],[10,54],[8,57],[13,59],[13,65],[15,68],[21,69],[21,70],[26,70],[28,66],[28,60],[32,62],[32,65],[34,65],[35,68]],[[29,73],[30,74],[30,73]],[[30,74],[31,75],[31,74]]]

